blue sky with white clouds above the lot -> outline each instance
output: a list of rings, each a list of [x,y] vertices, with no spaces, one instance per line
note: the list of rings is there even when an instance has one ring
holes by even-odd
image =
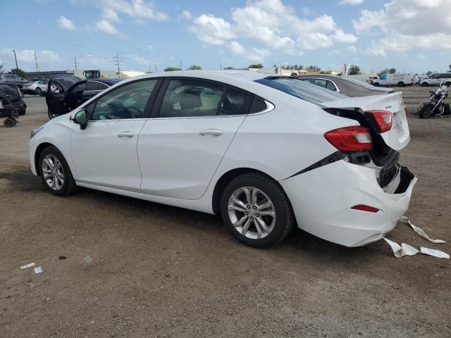
[[[0,64],[161,71],[317,65],[446,71],[451,0],[0,0]],[[6,37],[8,37],[6,39]]]

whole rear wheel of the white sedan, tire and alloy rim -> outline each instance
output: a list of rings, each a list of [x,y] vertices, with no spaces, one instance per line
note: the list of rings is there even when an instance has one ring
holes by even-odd
[[[248,190],[248,194],[245,189]],[[252,196],[257,196],[254,205],[248,203],[247,196],[251,200]],[[233,198],[240,204],[234,203]],[[266,207],[257,208],[264,205]],[[230,209],[229,206],[236,206],[237,209]],[[283,189],[271,178],[258,173],[238,176],[227,185],[221,196],[221,216],[227,230],[236,239],[256,248],[280,242],[292,229],[295,219],[290,201]],[[264,222],[266,230],[260,225],[261,221]],[[242,226],[235,227],[233,223],[240,223]]]

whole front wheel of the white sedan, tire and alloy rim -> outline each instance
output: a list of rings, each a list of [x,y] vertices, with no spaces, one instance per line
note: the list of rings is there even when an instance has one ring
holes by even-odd
[[[59,164],[58,164],[59,163]],[[67,196],[77,190],[72,173],[61,151],[54,146],[48,146],[39,155],[39,173],[46,189],[57,196]],[[52,168],[51,165],[54,165]],[[46,174],[50,171],[51,173]],[[58,175],[55,175],[58,174]],[[61,184],[61,174],[63,182]],[[60,177],[57,178],[56,176]]]

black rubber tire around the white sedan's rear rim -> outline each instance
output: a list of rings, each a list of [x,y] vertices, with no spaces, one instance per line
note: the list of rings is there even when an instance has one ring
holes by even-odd
[[[230,220],[228,213],[230,196],[242,187],[257,188],[260,192],[265,194],[273,204],[276,219],[271,232],[266,234],[266,237],[259,239],[246,237],[233,226],[232,221]],[[249,206],[248,209],[250,210],[251,208],[252,206]],[[257,220],[257,216],[259,216],[258,211],[254,211],[254,213],[257,213],[255,214]],[[242,213],[242,215],[244,216],[244,213]],[[249,213],[249,218],[252,218],[251,215],[252,214]],[[295,219],[290,201],[288,200],[288,196],[285,192],[283,192],[283,189],[276,181],[259,173],[249,173],[238,176],[227,185],[221,196],[221,216],[227,230],[233,234],[236,239],[244,244],[257,248],[272,246],[284,239],[292,229]],[[260,218],[264,217],[269,217],[270,219],[272,218],[272,216],[260,216]],[[255,225],[250,225],[248,232],[252,232],[252,227],[255,230],[254,233],[257,234],[257,228]]]

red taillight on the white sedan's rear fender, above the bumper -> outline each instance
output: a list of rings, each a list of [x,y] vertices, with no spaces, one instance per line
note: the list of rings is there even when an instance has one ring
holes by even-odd
[[[369,129],[366,127],[344,127],[326,132],[324,137],[344,153],[350,151],[366,151],[373,148]]]

